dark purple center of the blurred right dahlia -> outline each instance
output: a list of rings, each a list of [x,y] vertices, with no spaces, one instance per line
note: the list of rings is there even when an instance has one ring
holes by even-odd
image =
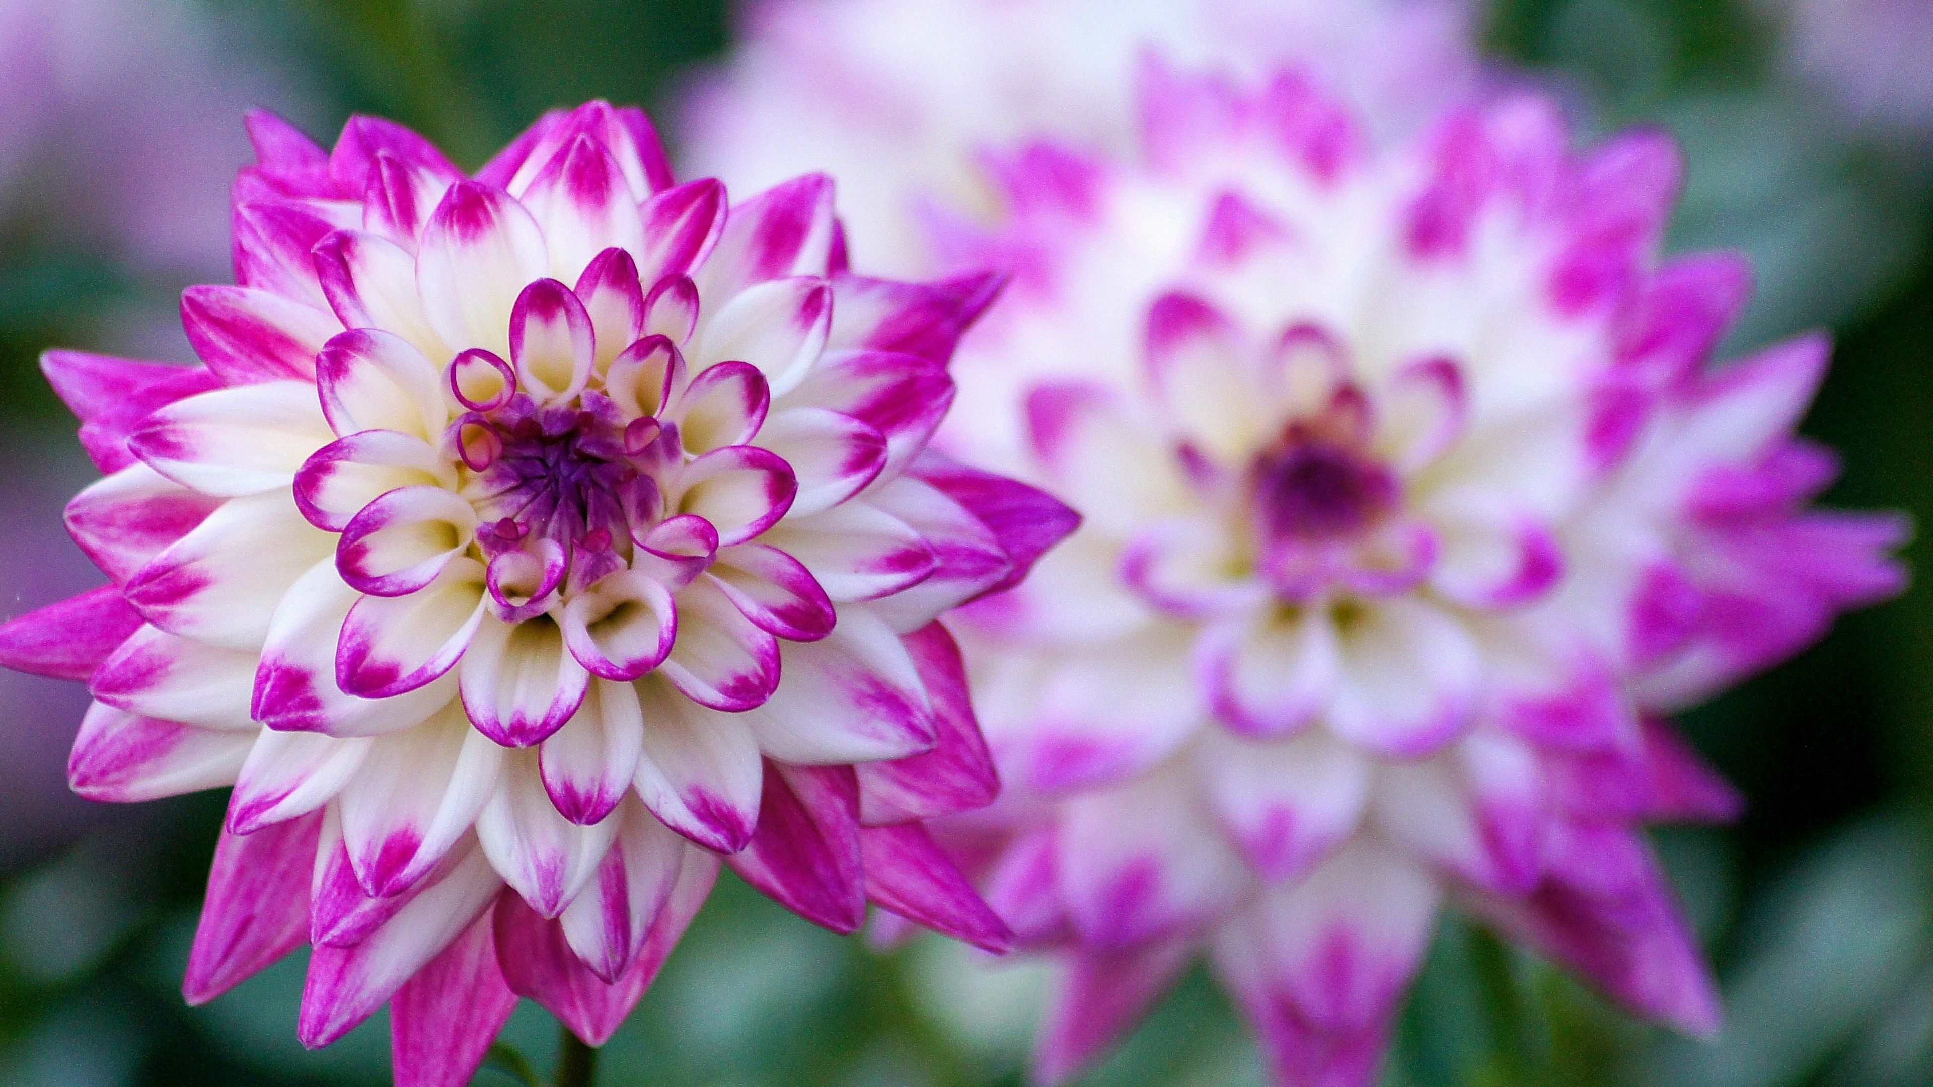
[[[1270,540],[1353,536],[1396,507],[1396,476],[1320,439],[1295,439],[1255,462],[1255,507]]]

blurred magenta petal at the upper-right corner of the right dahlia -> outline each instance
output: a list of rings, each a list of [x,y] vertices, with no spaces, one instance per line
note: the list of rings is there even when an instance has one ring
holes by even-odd
[[[1550,300],[1566,315],[1628,304],[1639,290],[1684,182],[1684,155],[1662,130],[1599,145],[1564,188],[1564,248]]]

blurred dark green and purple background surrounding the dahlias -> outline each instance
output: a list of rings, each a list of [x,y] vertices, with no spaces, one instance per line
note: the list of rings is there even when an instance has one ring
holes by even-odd
[[[1759,273],[1728,350],[1829,325],[1840,346],[1805,424],[1846,460],[1829,501],[1927,524],[1933,4],[1867,4],[1889,6],[1896,21],[1861,39],[1848,0],[1498,0],[1483,44],[1587,132],[1680,137],[1674,248],[1744,250]],[[176,298],[228,275],[245,106],[317,135],[385,114],[476,166],[555,104],[669,116],[733,19],[725,0],[0,0],[0,617],[99,580],[58,528],[91,468],[35,360],[52,344],[189,358]],[[329,1050],[296,1043],[300,955],[182,1006],[224,797],[70,797],[83,702],[77,685],[0,675],[0,1083],[387,1083],[381,1017]],[[1717,961],[1724,1037],[1639,1025],[1452,921],[1390,1087],[1933,1083],[1933,590],[1844,619],[1688,727],[1751,801],[1734,828],[1657,836]],[[1019,1085],[1042,981],[939,940],[878,954],[727,876],[599,1083]],[[543,1072],[555,1029],[526,1002],[505,1039]],[[487,1066],[477,1083],[518,1079]],[[1193,977],[1088,1083],[1262,1075]]]

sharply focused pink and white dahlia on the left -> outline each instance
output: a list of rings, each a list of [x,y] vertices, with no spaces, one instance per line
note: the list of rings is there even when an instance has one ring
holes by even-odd
[[[516,994],[607,1039],[721,857],[1003,946],[918,822],[995,791],[936,619],[1073,524],[924,451],[997,280],[852,275],[827,178],[729,205],[605,103],[470,178],[249,132],[205,366],[46,356],[112,584],[0,629],[93,690],[77,791],[234,785],[188,998],[309,942],[303,1043],[390,1002],[464,1083]]]

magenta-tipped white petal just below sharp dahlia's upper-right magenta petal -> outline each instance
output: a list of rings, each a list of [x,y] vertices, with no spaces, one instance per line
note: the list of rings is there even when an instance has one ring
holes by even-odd
[[[953,406],[953,379],[943,362],[885,350],[827,352],[779,408],[831,408],[885,437],[883,476],[891,478],[926,449]]]

